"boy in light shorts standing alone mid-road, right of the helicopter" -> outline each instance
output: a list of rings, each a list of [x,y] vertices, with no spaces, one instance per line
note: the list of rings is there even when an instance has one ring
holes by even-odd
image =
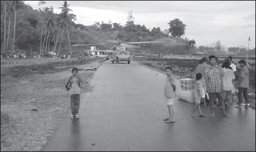
[[[170,66],[166,67],[166,80],[164,84],[164,97],[166,98],[166,104],[169,110],[169,117],[164,118],[164,121],[166,123],[175,123],[175,120],[173,118],[173,102],[174,98],[176,96],[175,90],[176,90],[176,85],[175,85],[175,80],[171,76],[172,74],[172,68]]]

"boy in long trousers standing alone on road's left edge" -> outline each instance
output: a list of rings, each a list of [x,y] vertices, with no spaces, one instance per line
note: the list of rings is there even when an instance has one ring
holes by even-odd
[[[66,89],[70,93],[70,108],[71,115],[70,118],[80,118],[79,108],[80,108],[80,94],[81,94],[81,78],[77,75],[78,69],[75,67],[72,69],[72,77],[66,83]]]

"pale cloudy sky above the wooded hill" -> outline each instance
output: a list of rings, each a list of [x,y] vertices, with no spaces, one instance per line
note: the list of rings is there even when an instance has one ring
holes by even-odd
[[[60,13],[63,1],[25,1],[33,9],[53,7]],[[133,11],[134,24],[146,28],[169,29],[170,20],[180,19],[185,35],[195,39],[196,45],[220,41],[225,47],[243,45],[255,48],[255,1],[67,1],[75,23],[85,26],[95,22],[125,25],[128,13]]]

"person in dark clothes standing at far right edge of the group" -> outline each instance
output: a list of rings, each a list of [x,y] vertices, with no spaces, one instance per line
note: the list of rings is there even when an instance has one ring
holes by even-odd
[[[239,81],[237,83],[238,91],[238,99],[239,105],[235,108],[242,108],[243,97],[245,98],[245,108],[248,108],[249,97],[248,97],[248,88],[249,88],[249,70],[246,67],[245,60],[239,60],[239,65],[241,67],[239,73]],[[242,96],[243,95],[243,96]]]

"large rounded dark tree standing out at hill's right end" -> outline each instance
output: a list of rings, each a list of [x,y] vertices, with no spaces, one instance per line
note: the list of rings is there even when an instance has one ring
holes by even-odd
[[[183,22],[180,21],[180,19],[170,20],[168,24],[170,26],[169,32],[172,35],[172,37],[181,37],[181,35],[185,34],[187,25],[183,24]]]

